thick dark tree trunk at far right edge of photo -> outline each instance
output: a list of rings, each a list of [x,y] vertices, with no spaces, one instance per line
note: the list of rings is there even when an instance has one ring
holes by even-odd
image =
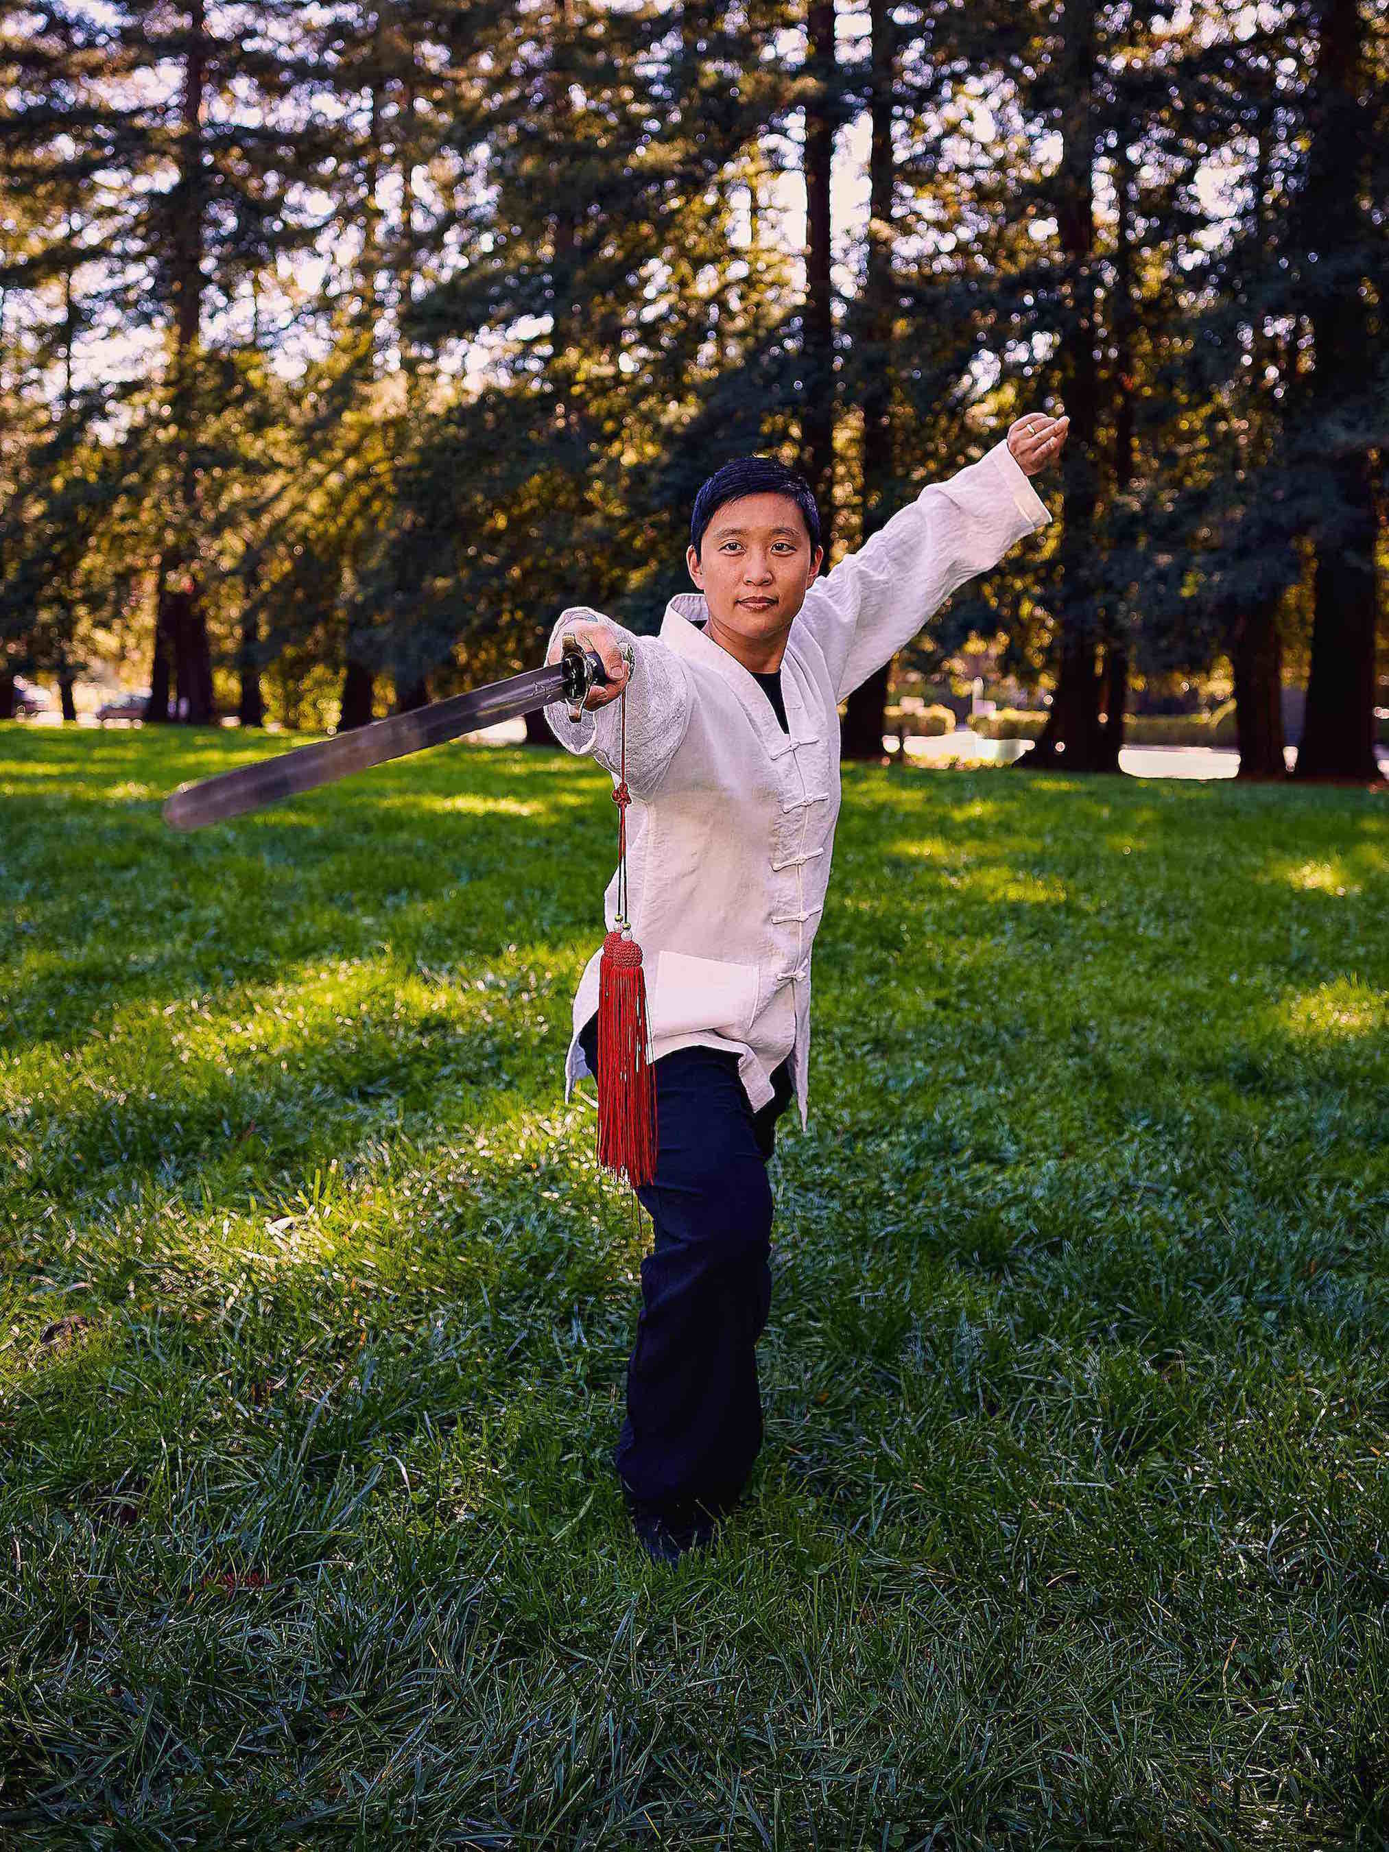
[[[1328,513],[1313,532],[1315,593],[1308,711],[1293,776],[1376,780],[1374,644],[1380,617],[1374,544],[1378,509],[1372,450],[1354,437],[1337,443],[1343,419],[1361,422],[1359,398],[1374,378],[1374,344],[1361,276],[1370,265],[1369,104],[1359,0],[1322,0],[1317,76],[1309,106],[1311,150],[1298,241],[1339,269],[1339,287],[1309,296],[1315,369],[1308,385],[1313,433],[1320,441]],[[1308,265],[1311,270],[1311,265]]]

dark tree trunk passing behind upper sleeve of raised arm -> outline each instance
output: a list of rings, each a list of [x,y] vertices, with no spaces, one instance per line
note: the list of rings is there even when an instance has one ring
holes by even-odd
[[[857,378],[863,398],[863,539],[887,520],[893,485],[893,13],[870,0],[872,143],[869,148],[869,252]],[[883,663],[848,696],[839,730],[841,759],[882,759],[883,709],[893,665]]]

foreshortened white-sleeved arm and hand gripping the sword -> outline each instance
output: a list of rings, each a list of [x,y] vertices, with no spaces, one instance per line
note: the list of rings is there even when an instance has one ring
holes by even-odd
[[[550,632],[546,663],[559,661],[567,630],[572,630],[585,648],[598,650],[609,682],[606,687],[589,689],[578,720],[569,719],[567,702],[550,702],[544,709],[546,724],[565,752],[591,754],[617,778],[622,767],[619,694],[626,689],[628,789],[635,798],[648,798],[665,778],[689,726],[694,698],[689,670],[659,637],[639,637],[587,604],[559,613]],[[624,648],[632,650],[630,674],[622,657]]]

